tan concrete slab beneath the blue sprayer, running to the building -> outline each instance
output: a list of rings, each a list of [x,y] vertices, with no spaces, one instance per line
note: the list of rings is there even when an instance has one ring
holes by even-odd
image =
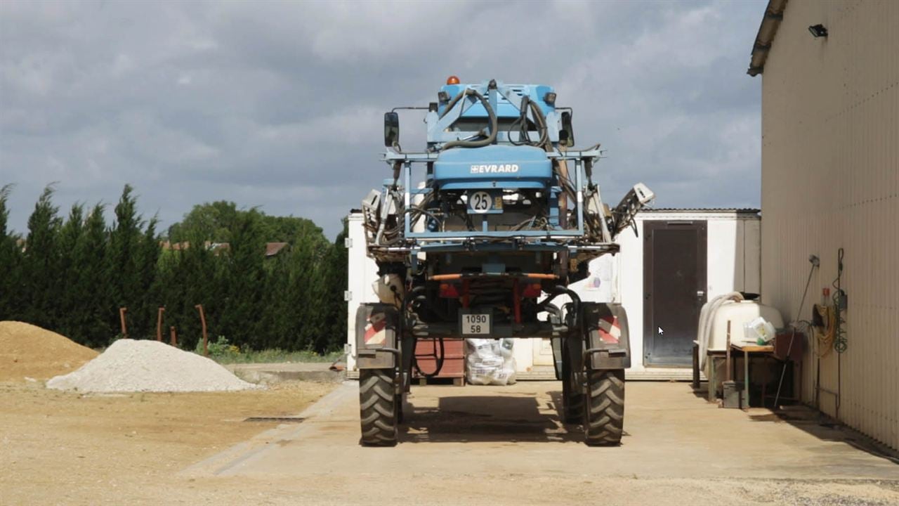
[[[547,477],[663,480],[666,487],[706,483],[708,490],[742,483],[744,491],[763,483],[775,483],[770,490],[784,483],[812,483],[813,490],[814,483],[875,483],[882,496],[862,503],[899,503],[899,465],[853,447],[846,433],[814,420],[789,423],[768,410],[719,409],[689,384],[628,382],[622,445],[586,447],[580,428],[559,421],[560,394],[557,382],[414,386],[400,444],[373,448],[359,445],[358,385],[345,382],[300,413],[305,420],[299,425],[272,429],[182,475],[348,483],[386,474],[394,486],[380,488],[398,497],[423,475],[445,483],[458,483],[459,476],[501,476],[506,484]],[[726,486],[715,485],[721,480]],[[734,502],[754,502],[744,500]]]

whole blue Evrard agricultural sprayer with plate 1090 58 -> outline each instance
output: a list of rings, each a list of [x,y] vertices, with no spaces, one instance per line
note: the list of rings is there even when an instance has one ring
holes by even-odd
[[[572,110],[550,86],[450,77],[437,97],[423,151],[403,150],[396,109],[384,115],[393,176],[362,203],[380,303],[356,313],[361,442],[396,443],[416,339],[549,338],[565,422],[583,424],[588,445],[618,444],[628,316],[568,285],[618,252],[654,194],[637,184],[602,202],[599,145],[573,148]]]

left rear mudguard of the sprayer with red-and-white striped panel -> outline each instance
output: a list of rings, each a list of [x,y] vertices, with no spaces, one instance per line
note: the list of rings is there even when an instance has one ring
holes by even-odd
[[[387,369],[396,366],[399,312],[391,304],[360,304],[356,310],[356,366]]]

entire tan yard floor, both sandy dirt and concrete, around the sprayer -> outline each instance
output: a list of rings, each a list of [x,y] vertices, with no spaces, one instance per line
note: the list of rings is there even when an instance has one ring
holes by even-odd
[[[899,465],[839,430],[628,382],[623,444],[588,448],[558,421],[557,390],[414,387],[400,444],[363,448],[349,382],[119,397],[2,384],[0,503],[899,504]]]

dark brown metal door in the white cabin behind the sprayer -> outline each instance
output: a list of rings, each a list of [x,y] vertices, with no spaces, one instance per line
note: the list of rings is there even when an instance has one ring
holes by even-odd
[[[643,363],[690,366],[706,302],[706,221],[644,221]]]

